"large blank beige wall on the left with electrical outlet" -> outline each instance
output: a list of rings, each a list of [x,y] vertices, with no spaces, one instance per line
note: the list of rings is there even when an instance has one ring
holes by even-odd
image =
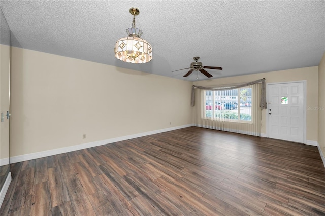
[[[15,47],[11,79],[12,157],[192,124],[188,81]]]

